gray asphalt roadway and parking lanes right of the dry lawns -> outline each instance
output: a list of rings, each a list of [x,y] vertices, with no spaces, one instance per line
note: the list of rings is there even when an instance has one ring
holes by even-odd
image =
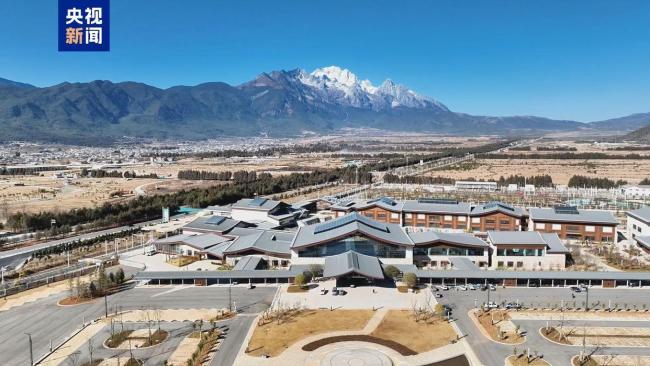
[[[453,319],[466,335],[472,349],[484,365],[503,365],[504,359],[511,355],[513,346],[507,346],[493,342],[485,338],[474,325],[474,322],[467,315],[468,311],[474,308],[474,304],[480,304],[487,301],[487,292],[485,291],[443,291],[443,298],[440,303],[450,306],[453,309]],[[581,306],[585,301],[585,294],[577,294],[576,298],[571,297],[571,290],[568,288],[498,288],[490,294],[490,301],[516,302],[519,301],[527,306],[548,306],[549,302],[555,305],[569,304],[573,305],[576,301],[577,306]],[[642,306],[650,304],[650,291],[639,289],[591,289],[589,290],[589,303],[599,301],[600,303],[612,306],[616,303],[619,306],[628,304]],[[516,321],[521,325],[522,331],[526,332],[526,343],[517,346],[519,352],[525,348],[530,348],[531,352],[537,351],[544,356],[552,365],[569,365],[571,357],[580,352],[580,347],[560,346],[553,344],[539,335],[539,328],[546,326],[546,321],[527,320]],[[557,325],[557,322],[551,322],[551,325]],[[601,321],[580,321],[567,322],[567,326],[586,324],[594,326],[645,326],[648,322],[601,322]],[[587,347],[587,351],[593,350],[593,347]],[[648,351],[643,348],[604,348],[597,354],[647,354]]]

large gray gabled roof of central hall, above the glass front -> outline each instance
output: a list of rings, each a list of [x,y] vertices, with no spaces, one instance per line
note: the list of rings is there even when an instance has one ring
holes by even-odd
[[[354,233],[361,233],[386,243],[413,245],[413,241],[399,224],[378,222],[353,212],[320,224],[300,227],[292,247],[327,242]]]

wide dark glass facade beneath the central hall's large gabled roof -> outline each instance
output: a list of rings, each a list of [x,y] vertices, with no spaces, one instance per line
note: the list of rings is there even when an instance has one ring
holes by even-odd
[[[354,250],[355,252],[380,258],[406,258],[406,249],[397,245],[384,244],[363,236],[353,236],[323,245],[315,245],[298,252],[299,257],[328,257]]]

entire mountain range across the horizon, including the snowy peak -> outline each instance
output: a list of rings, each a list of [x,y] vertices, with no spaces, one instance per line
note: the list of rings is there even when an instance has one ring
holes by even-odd
[[[124,136],[198,140],[296,136],[344,128],[460,135],[622,133],[647,124],[650,113],[592,123],[469,115],[391,80],[375,86],[336,66],[311,73],[301,69],[262,73],[236,86],[209,82],[167,89],[101,80],[39,88],[0,79],[4,140],[92,145]]]

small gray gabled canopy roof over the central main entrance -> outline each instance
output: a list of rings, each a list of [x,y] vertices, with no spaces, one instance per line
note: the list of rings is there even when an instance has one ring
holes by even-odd
[[[371,278],[384,278],[377,257],[349,251],[325,258],[323,277],[339,277],[350,273]]]

